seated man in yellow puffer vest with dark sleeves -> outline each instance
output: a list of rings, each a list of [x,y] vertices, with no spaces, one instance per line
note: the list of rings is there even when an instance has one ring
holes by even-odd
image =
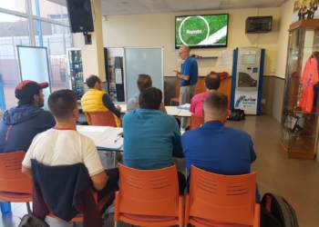
[[[89,75],[87,77],[87,86],[89,91],[81,99],[82,110],[87,116],[87,123],[90,124],[87,113],[110,111],[113,113],[117,126],[121,127],[119,120],[121,108],[119,105],[115,106],[112,103],[108,93],[103,90],[99,77],[94,74]]]

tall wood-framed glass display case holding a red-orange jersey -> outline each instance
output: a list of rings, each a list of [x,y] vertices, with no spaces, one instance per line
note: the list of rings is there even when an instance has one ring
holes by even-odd
[[[318,143],[319,19],[289,29],[279,145],[288,157],[314,159]]]

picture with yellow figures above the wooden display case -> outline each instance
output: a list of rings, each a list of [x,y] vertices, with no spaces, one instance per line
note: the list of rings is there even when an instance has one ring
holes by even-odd
[[[297,0],[293,5],[293,21],[319,19],[319,0]]]

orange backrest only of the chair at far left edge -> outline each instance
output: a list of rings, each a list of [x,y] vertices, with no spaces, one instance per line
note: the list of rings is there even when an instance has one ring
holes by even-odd
[[[21,173],[24,151],[0,153],[0,191],[32,193],[32,181]]]

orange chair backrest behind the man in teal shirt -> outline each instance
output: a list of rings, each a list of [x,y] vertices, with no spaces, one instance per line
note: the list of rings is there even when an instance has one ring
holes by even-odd
[[[178,216],[179,183],[176,166],[136,170],[118,163],[119,212]]]

